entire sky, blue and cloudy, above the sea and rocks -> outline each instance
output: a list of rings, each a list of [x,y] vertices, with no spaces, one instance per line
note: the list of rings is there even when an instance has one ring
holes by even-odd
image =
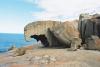
[[[100,13],[100,0],[0,0],[0,33],[23,33],[37,20],[71,20]]]

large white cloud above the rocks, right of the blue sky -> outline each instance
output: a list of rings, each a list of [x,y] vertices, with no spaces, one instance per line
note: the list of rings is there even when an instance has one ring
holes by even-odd
[[[100,13],[100,0],[35,0],[42,12],[34,12],[35,20],[66,20],[80,13]]]

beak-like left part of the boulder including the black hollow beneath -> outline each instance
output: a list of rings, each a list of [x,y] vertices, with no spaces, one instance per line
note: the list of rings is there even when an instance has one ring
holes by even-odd
[[[29,23],[24,28],[24,35],[26,41],[30,41],[32,38],[36,39],[37,41],[41,41],[41,43],[47,47],[49,46],[47,40],[47,31],[48,29],[52,29],[53,27],[58,26],[61,24],[60,21],[36,21]]]

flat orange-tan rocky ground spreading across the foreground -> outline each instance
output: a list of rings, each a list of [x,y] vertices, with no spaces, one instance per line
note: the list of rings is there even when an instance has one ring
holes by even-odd
[[[100,67],[100,51],[96,50],[33,48],[22,56],[13,54],[0,55],[0,67]]]

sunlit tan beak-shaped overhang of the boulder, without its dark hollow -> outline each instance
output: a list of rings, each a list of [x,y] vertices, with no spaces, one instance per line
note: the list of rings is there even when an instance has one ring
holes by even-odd
[[[24,35],[26,41],[31,40],[31,35],[44,35],[48,28],[53,28],[60,24],[59,21],[36,21],[29,23],[24,27]]]

